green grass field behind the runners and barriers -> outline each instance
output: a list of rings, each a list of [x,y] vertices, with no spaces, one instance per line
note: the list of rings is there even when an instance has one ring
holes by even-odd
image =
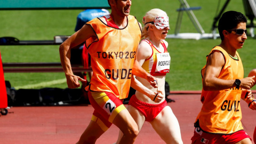
[[[218,1],[187,0],[189,5],[201,6],[194,11],[205,33],[211,33],[213,18],[216,15]],[[225,1],[220,1],[220,9]],[[142,23],[143,15],[150,9],[159,8],[169,15],[170,31],[174,33],[179,1],[132,1],[131,15]],[[244,13],[242,1],[230,1],[226,11],[235,10]],[[0,37],[13,36],[20,40],[51,40],[55,35],[72,35],[76,25],[76,16],[82,10],[34,10],[0,11]],[[180,33],[196,33],[193,23],[183,13]],[[201,68],[206,63],[206,55],[213,46],[220,44],[220,39],[166,39],[171,55],[170,74],[166,80],[171,91],[201,90]],[[255,68],[254,57],[256,41],[248,37],[243,49],[238,50],[244,66],[244,76]],[[0,46],[3,62],[60,62],[58,45]],[[35,85],[65,78],[64,73],[5,73],[5,79],[14,87]],[[66,88],[66,83],[47,87]],[[34,87],[36,89],[42,87]],[[255,90],[256,88],[253,87]]]

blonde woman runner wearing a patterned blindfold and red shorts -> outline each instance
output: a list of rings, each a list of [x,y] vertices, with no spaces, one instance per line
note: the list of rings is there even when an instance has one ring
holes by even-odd
[[[158,90],[148,84],[145,79],[136,77],[142,87],[151,91],[158,91],[165,95],[165,75],[169,73],[171,57],[167,52],[168,43],[164,40],[168,33],[169,18],[166,12],[153,9],[143,18],[142,39],[137,52],[137,59],[143,69],[157,79]],[[180,134],[180,126],[172,109],[167,106],[166,100],[156,101],[147,95],[136,91],[132,95],[127,110],[138,124],[139,131],[145,121],[149,122],[154,130],[166,143],[183,143]],[[119,133],[116,143],[122,138]]]

